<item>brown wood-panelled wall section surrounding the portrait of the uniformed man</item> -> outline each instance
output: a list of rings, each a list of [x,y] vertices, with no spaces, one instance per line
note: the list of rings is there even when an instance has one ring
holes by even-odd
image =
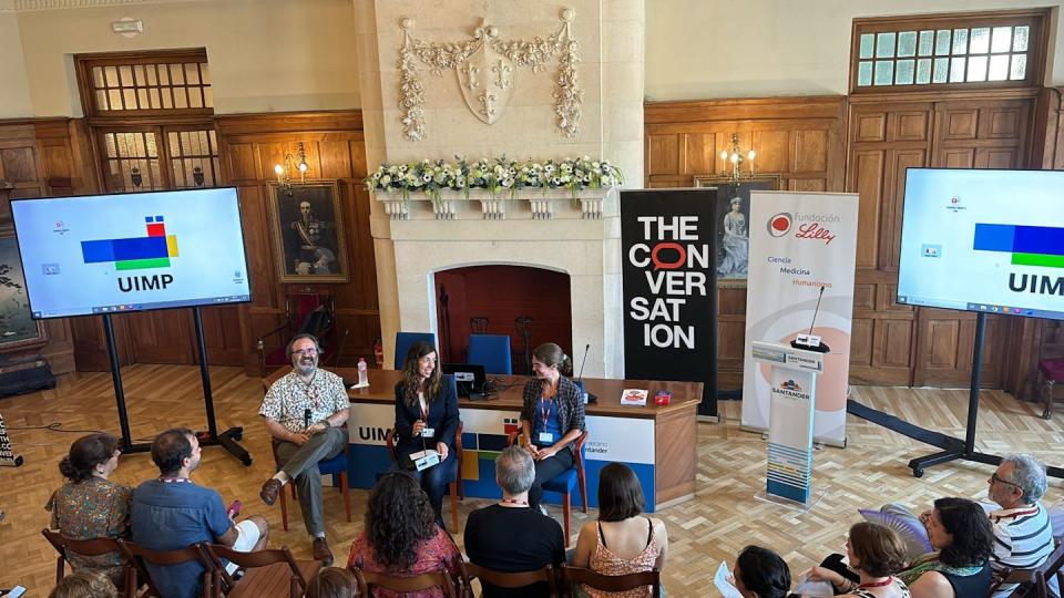
[[[310,168],[307,178],[339,181],[347,228],[350,281],[336,286],[337,326],[350,329],[342,358],[365,355],[372,363],[374,341],[380,337],[377,272],[369,233],[369,194],[361,113],[358,111],[218,116],[218,150],[226,184],[239,190],[245,243],[250,268],[253,303],[241,310],[248,371],[257,371],[256,340],[284,321],[285,289],[277,281],[270,238],[267,183],[285,154],[296,154],[303,142]],[[267,350],[287,342],[274,337]]]

